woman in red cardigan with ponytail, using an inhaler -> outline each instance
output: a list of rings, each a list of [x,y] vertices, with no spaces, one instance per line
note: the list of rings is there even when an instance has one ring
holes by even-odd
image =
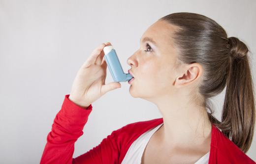
[[[215,21],[173,13],[152,24],[128,58],[129,93],[157,105],[162,118],[128,124],[72,158],[92,103],[120,88],[105,84],[99,45],[78,71],[47,136],[41,164],[255,164],[245,153],[255,127],[248,47]],[[222,121],[209,98],[226,86]]]

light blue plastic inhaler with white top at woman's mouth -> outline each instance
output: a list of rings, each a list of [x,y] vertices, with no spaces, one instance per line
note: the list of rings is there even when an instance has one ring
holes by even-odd
[[[124,72],[113,46],[106,46],[103,48],[103,51],[105,54],[104,58],[113,80],[115,82],[126,82],[130,80],[132,76],[129,73]]]

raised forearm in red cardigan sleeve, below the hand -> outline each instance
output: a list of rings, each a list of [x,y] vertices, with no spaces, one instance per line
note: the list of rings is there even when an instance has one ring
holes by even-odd
[[[62,109],[56,115],[52,130],[47,135],[40,164],[72,163],[74,143],[83,135],[84,125],[91,111],[91,105],[87,109],[79,107],[65,95]]]

